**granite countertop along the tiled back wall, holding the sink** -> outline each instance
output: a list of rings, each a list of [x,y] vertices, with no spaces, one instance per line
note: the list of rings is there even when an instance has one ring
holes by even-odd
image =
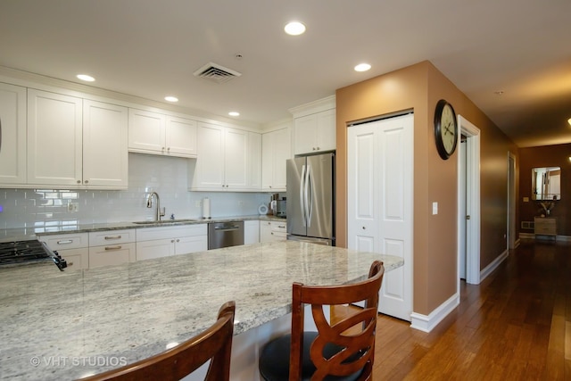
[[[57,225],[54,227],[29,227],[29,228],[8,228],[0,229],[0,242],[19,241],[26,239],[36,239],[37,236],[48,236],[62,233],[88,233],[100,230],[120,230],[126,228],[157,228],[170,227],[178,225],[194,225],[207,224],[210,222],[224,222],[234,220],[269,220],[269,221],[285,221],[286,219],[273,215],[245,215],[245,216],[227,216],[212,217],[211,219],[189,218],[189,219],[162,219],[161,222],[152,220],[142,221],[123,221],[123,222],[102,222],[93,224],[73,224],[73,225]]]

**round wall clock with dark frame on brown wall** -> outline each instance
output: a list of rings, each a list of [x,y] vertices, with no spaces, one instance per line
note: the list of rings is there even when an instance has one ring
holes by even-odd
[[[436,149],[444,160],[456,151],[458,142],[458,121],[451,104],[441,99],[434,111],[434,139]]]

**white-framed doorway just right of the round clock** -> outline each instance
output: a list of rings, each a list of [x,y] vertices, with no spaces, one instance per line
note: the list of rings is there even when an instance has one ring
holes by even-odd
[[[458,125],[459,135],[466,137],[466,142],[459,144],[457,166],[459,293],[460,274],[464,275],[460,266],[466,269],[468,284],[480,284],[480,129],[461,115]]]

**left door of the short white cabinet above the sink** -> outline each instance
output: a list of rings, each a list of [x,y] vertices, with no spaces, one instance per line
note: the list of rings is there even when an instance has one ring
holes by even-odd
[[[128,109],[128,149],[138,153],[164,153],[166,116]]]

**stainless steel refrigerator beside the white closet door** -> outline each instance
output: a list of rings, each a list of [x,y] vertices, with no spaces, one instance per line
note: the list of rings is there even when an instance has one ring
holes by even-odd
[[[335,246],[335,153],[287,161],[287,239]]]

